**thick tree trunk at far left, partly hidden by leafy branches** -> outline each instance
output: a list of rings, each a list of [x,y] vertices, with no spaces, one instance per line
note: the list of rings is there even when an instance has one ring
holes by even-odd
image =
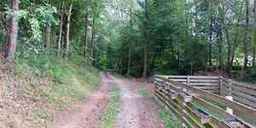
[[[16,11],[19,9],[18,0],[9,0],[9,8]],[[7,61],[9,63],[15,63],[15,51],[18,38],[18,20],[16,17],[10,17],[7,23],[8,31],[8,48],[7,48]]]

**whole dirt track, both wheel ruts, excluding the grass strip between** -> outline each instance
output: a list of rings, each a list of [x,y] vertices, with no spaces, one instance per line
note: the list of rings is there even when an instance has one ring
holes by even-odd
[[[68,108],[53,119],[49,128],[95,128],[98,115],[104,113],[113,87],[118,87],[121,95],[119,117],[116,128],[161,128],[162,122],[156,116],[153,103],[139,95],[139,90],[153,91],[153,84],[123,80],[111,73],[100,73],[101,84],[83,102]]]

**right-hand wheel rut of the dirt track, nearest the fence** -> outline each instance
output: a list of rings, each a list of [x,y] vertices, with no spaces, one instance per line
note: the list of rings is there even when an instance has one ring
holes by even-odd
[[[110,73],[110,79],[117,83],[121,95],[121,108],[114,127],[116,128],[161,128],[163,123],[154,112],[154,102],[145,99],[139,90],[154,91],[153,84],[131,80],[120,80]],[[149,87],[150,86],[150,87]]]

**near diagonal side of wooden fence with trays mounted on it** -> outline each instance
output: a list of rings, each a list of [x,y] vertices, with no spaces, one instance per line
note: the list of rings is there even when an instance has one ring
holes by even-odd
[[[177,82],[174,80],[170,76],[156,76],[154,79],[154,94],[187,127],[226,128],[239,126],[254,127],[253,125],[256,125],[256,109],[249,108],[236,101],[230,101],[223,96],[218,96],[205,89],[199,89],[199,87],[196,87],[198,85],[188,85],[191,81],[190,77],[189,82],[179,80]],[[197,82],[196,80],[192,81]],[[211,81],[215,82],[215,80]],[[184,89],[189,91],[184,91]],[[224,92],[221,91],[221,93]],[[232,109],[235,113],[240,113],[242,116],[227,112],[227,108]]]

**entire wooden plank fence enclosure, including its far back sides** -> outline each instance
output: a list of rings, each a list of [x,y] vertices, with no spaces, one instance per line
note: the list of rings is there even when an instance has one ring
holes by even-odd
[[[185,79],[184,76],[177,77],[178,79]],[[170,79],[171,78],[171,79]],[[191,78],[187,77],[188,83],[190,83]],[[196,77],[192,77],[193,79],[198,79]],[[209,91],[206,91],[206,89],[214,89],[215,86],[218,85],[212,85],[204,87],[198,87],[200,85],[193,86],[191,84],[183,84],[181,82],[177,82],[172,80],[172,76],[156,76],[156,79],[154,79],[155,83],[155,96],[166,105],[166,108],[169,108],[172,110],[173,113],[177,114],[177,117],[180,118],[185,125],[188,127],[213,127],[212,124],[218,125],[218,127],[230,127],[230,125],[227,126],[226,121],[227,120],[235,120],[235,122],[240,122],[243,125],[246,125],[247,127],[254,127],[253,125],[256,125],[256,109],[249,108],[245,105],[242,105],[238,102],[232,102],[230,100],[225,99],[222,96],[218,96],[216,94],[212,94]],[[207,77],[201,77],[199,79],[207,79]],[[214,81],[215,80],[215,81]],[[192,80],[196,81],[197,83],[205,83],[206,80]],[[229,79],[218,79],[215,77],[210,78],[211,83],[215,83],[217,81],[220,81],[220,88],[221,94],[223,96],[233,95],[234,99],[238,99],[237,101],[242,102],[241,96],[247,96],[247,100],[244,101],[250,101],[255,100],[254,95],[248,95],[247,93],[242,93],[239,91],[239,89],[242,89],[244,91],[253,89],[254,87],[250,88],[250,86],[246,86],[246,88],[242,88],[241,85],[232,85],[230,84]],[[232,86],[230,86],[232,85]],[[183,91],[183,89],[189,90],[189,91]],[[248,93],[253,92],[249,91]],[[235,95],[236,94],[236,95]],[[239,96],[237,96],[239,95]],[[237,98],[239,97],[239,98]],[[232,108],[234,111],[241,113],[243,117],[246,119],[239,118],[233,114],[230,114],[226,112],[223,108],[218,108],[217,106],[213,105],[212,103],[209,103],[204,100],[204,98],[212,99],[215,102],[218,102],[224,107]],[[252,104],[253,101],[250,101]],[[202,106],[202,109],[200,106]],[[207,110],[208,109],[208,110]],[[209,112],[211,111],[211,113]],[[203,114],[197,114],[197,113],[203,113]],[[214,113],[214,114],[213,114]],[[218,116],[221,117],[219,119]],[[202,116],[207,115],[207,116]],[[246,121],[245,121],[246,120]],[[253,125],[252,125],[252,124]]]

